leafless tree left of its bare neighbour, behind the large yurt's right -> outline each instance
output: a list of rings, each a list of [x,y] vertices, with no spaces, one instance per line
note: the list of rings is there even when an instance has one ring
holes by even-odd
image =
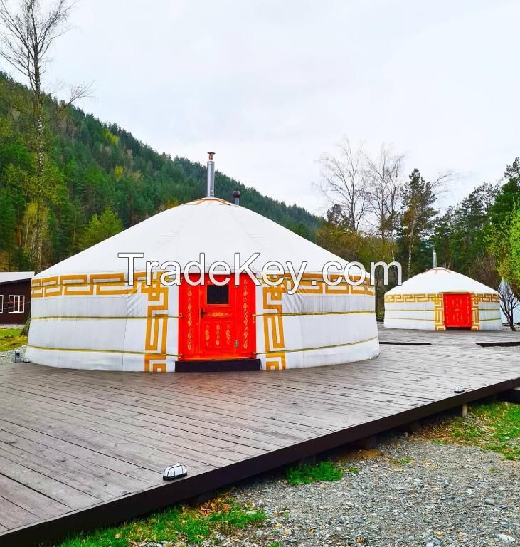
[[[352,150],[348,139],[337,145],[338,155],[323,154],[320,189],[332,206],[339,205],[351,231],[357,233],[368,211],[367,179],[362,147]]]

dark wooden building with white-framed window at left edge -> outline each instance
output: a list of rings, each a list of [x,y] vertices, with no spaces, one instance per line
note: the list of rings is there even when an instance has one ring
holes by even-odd
[[[31,313],[33,271],[0,272],[0,325],[23,325]]]

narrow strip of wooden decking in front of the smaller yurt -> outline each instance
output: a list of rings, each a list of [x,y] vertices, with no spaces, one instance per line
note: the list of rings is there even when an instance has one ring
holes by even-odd
[[[520,345],[520,332],[510,330],[414,330],[385,328],[378,323],[381,344],[460,344],[474,343],[482,347],[492,345]]]

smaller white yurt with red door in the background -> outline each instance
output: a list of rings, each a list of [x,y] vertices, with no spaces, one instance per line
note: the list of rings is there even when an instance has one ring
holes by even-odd
[[[386,293],[385,327],[499,330],[499,293],[462,273],[433,268]]]

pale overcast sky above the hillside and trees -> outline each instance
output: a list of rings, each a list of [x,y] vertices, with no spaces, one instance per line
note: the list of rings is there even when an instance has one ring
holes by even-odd
[[[78,0],[48,81],[159,152],[322,212],[317,158],[392,143],[406,171],[464,176],[520,155],[518,0]],[[446,200],[445,200],[446,201]]]

